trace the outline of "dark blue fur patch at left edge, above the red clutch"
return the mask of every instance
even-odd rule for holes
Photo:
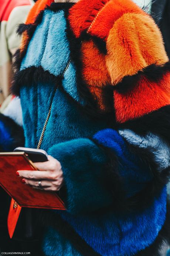
[[[13,119],[0,114],[0,151],[10,152],[18,146],[24,146],[23,128]]]

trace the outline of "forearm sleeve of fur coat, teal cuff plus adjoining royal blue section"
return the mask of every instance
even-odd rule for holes
[[[76,139],[50,148],[64,173],[67,210],[85,213],[125,203],[143,190],[153,174],[149,165],[133,154],[121,135],[113,129],[93,138]]]

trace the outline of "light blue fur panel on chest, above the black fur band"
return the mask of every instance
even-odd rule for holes
[[[69,47],[66,40],[64,12],[45,10],[43,20],[37,26],[28,45],[21,70],[30,66],[42,66],[51,74],[61,75],[69,62]]]

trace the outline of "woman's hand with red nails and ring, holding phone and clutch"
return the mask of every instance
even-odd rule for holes
[[[34,165],[38,171],[17,171],[17,175],[23,178],[23,183],[48,191],[58,191],[62,187],[61,164],[54,157],[48,155],[47,162],[34,163]]]

